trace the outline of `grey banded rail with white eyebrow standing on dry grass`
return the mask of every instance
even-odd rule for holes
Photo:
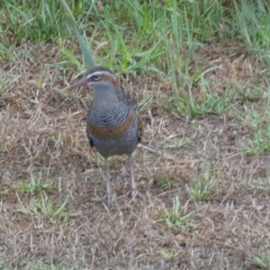
[[[70,85],[88,86],[94,90],[93,101],[87,112],[86,133],[91,148],[104,159],[106,197],[112,202],[109,157],[127,155],[130,168],[131,195],[137,193],[133,173],[134,151],[143,135],[143,122],[137,103],[108,67],[91,67],[85,76]]]

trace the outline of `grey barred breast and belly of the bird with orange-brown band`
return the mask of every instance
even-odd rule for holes
[[[108,94],[102,97],[97,95],[87,115],[88,139],[103,157],[131,154],[141,136],[136,103],[121,88],[115,87],[113,93],[117,97],[116,103],[105,101],[105,107],[94,106],[93,103],[102,103],[99,99],[110,98]]]

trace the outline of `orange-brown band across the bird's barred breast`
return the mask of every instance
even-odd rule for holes
[[[130,124],[134,121],[133,113],[130,113],[126,121],[124,121],[121,125],[116,125],[112,128],[108,127],[97,127],[88,122],[88,127],[92,131],[95,136],[106,138],[106,137],[116,137],[124,134],[129,128]]]

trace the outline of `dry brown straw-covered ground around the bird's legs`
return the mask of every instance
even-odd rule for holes
[[[103,159],[90,152],[85,136],[93,93],[86,88],[74,90],[71,98],[58,93],[71,83],[72,73],[49,65],[53,56],[58,61],[57,55],[58,49],[37,47],[32,59],[14,53],[0,63],[6,76],[20,75],[0,97],[0,261],[10,269],[45,269],[39,264],[60,269],[260,269],[253,256],[270,252],[270,191],[258,186],[269,184],[270,157],[243,153],[248,129],[229,113],[186,121],[158,102],[172,94],[161,77],[130,77],[124,85],[143,101],[145,123],[136,152],[139,196],[126,195],[126,157],[116,157],[112,205],[93,202],[105,193]],[[210,66],[223,64],[207,77],[212,85],[234,82],[241,74],[246,80],[256,65],[237,54],[226,62],[219,54],[210,55]],[[222,86],[216,91],[222,94]],[[181,138],[187,141],[184,147],[167,147],[171,139]],[[190,188],[207,167],[211,197],[195,201]],[[48,187],[27,191],[25,183],[39,178]],[[192,214],[181,226],[169,227],[165,212],[172,211],[175,196],[180,219]]]

